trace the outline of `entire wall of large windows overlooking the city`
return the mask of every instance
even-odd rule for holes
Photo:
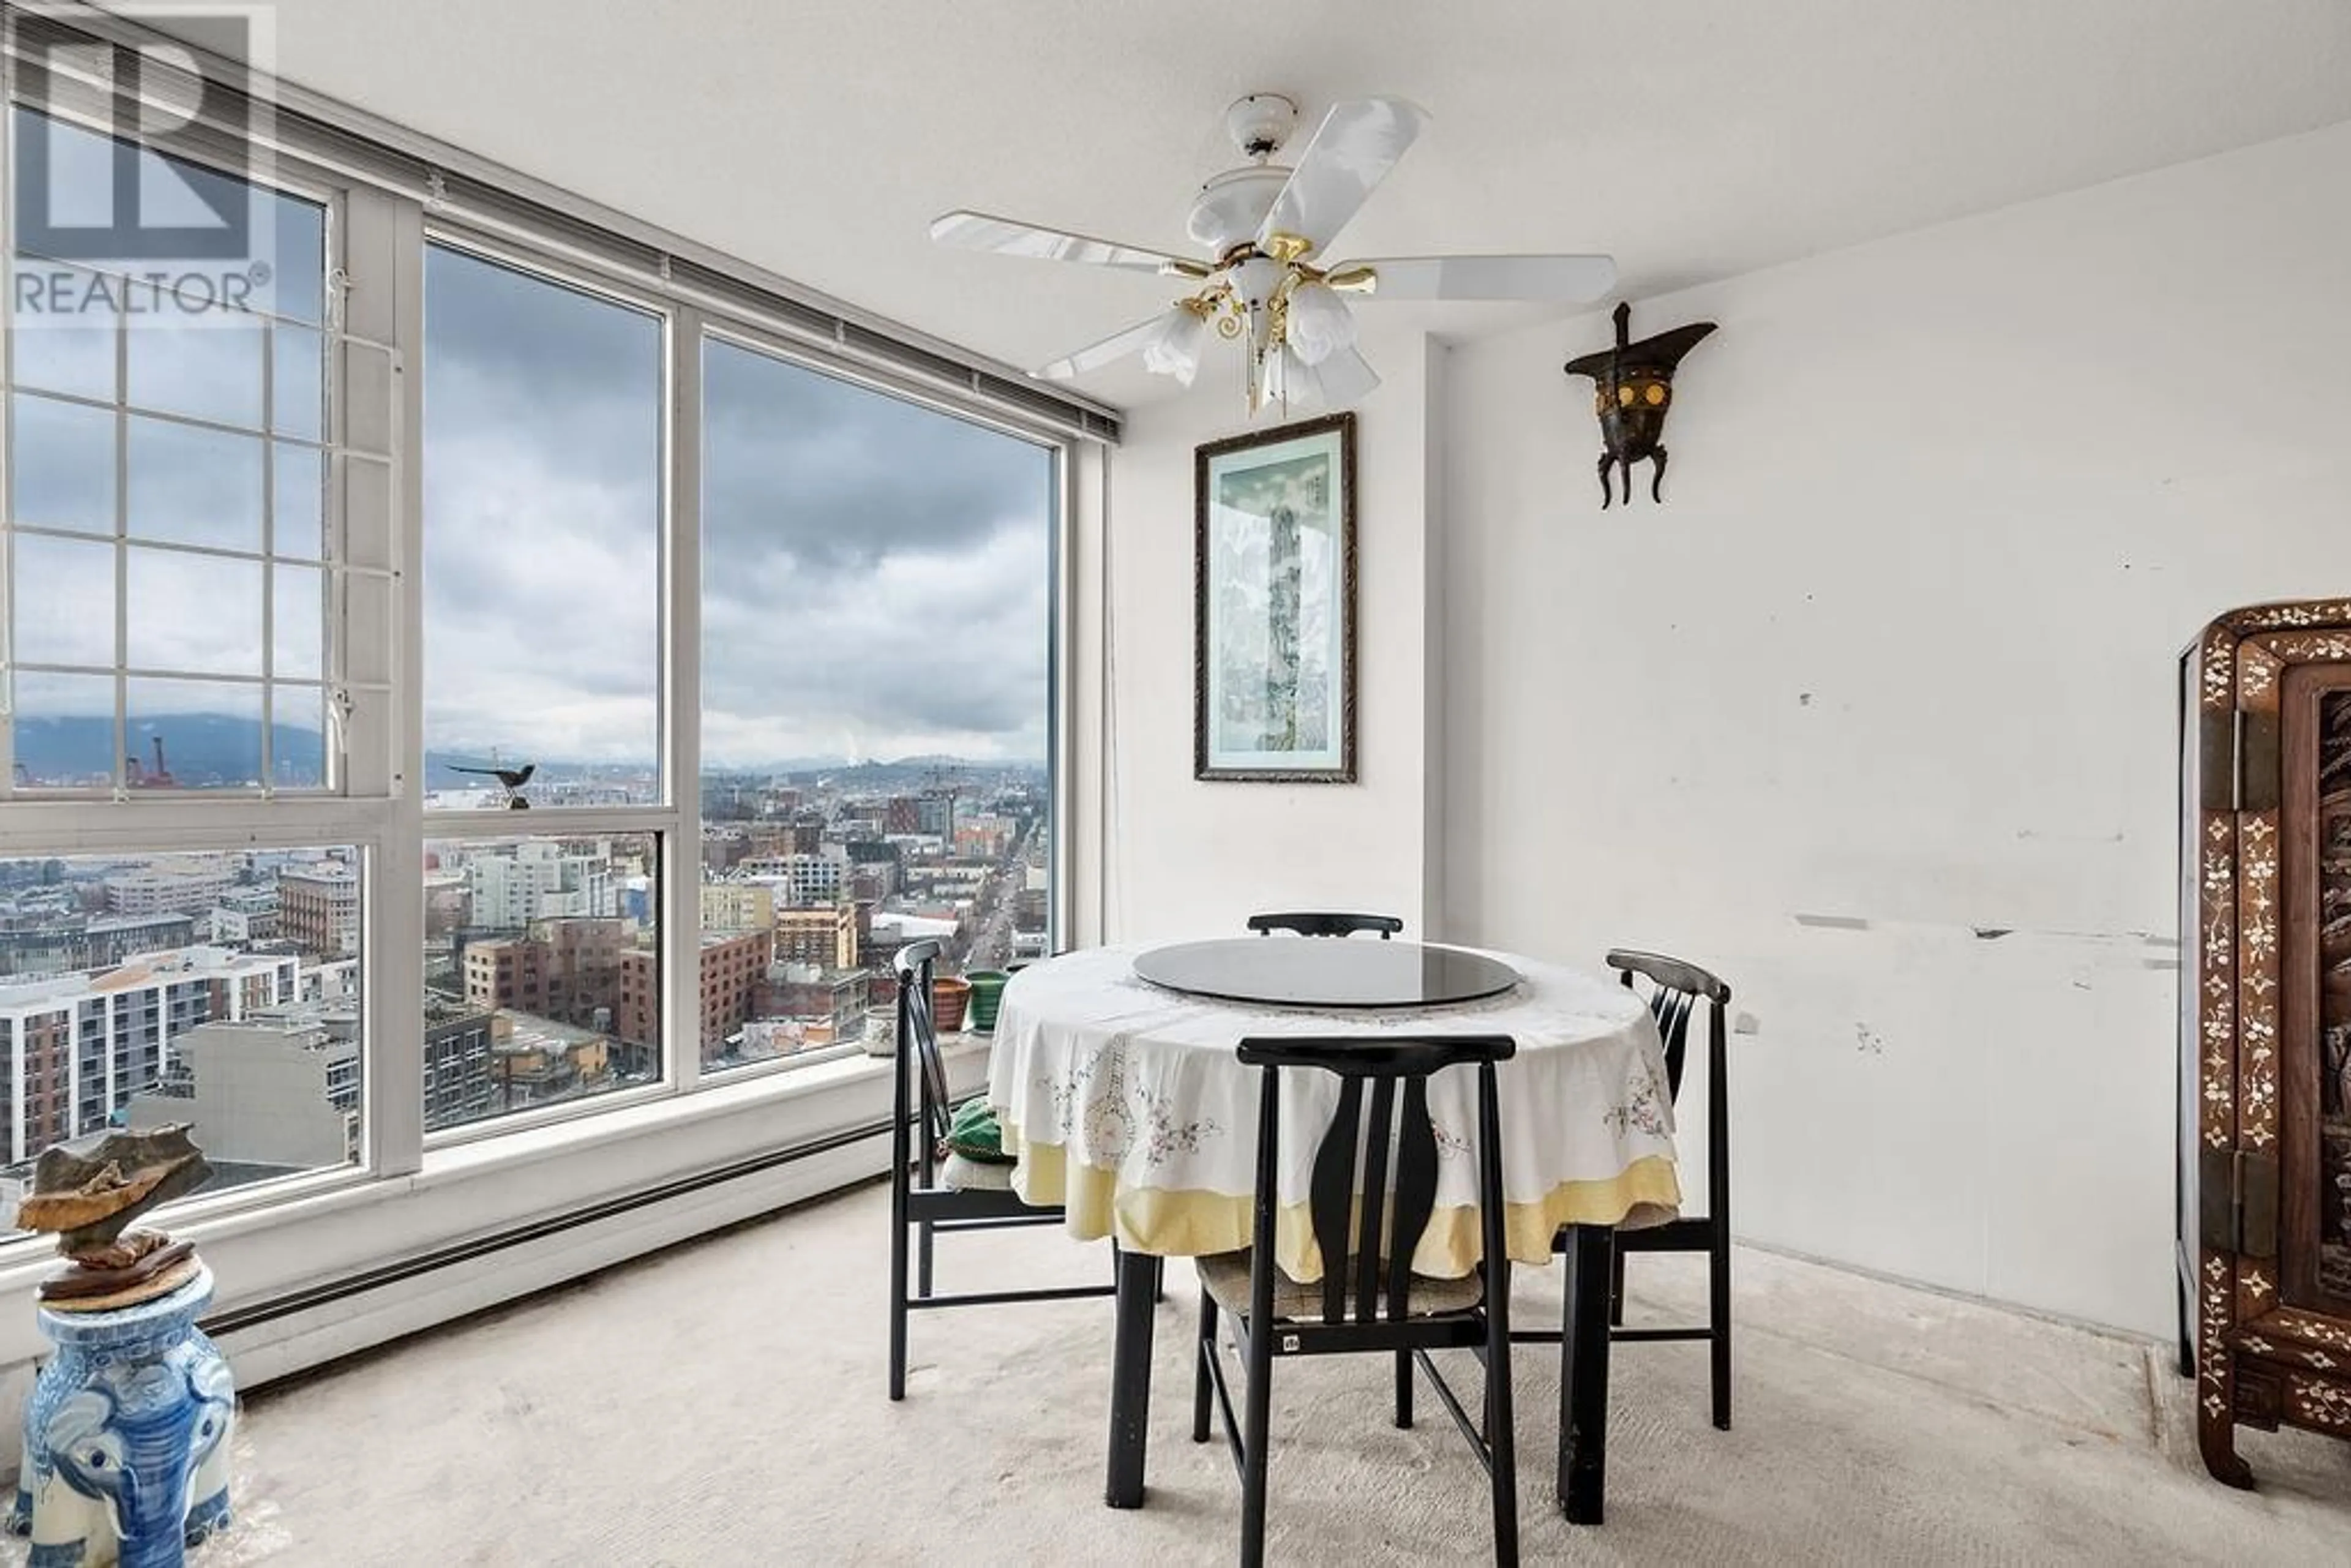
[[[256,1201],[592,1140],[872,1044],[907,940],[1046,950],[1065,454],[1018,397],[94,92],[0,120],[0,1199],[158,1121]],[[249,202],[252,287],[59,252],[127,165]]]

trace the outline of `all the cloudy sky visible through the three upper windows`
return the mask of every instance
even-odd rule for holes
[[[101,143],[73,132],[52,141],[52,160],[59,193],[94,188],[103,172]],[[266,209],[277,256],[266,303],[315,322],[322,214],[292,197]],[[45,270],[66,296],[87,294],[75,268]],[[134,719],[259,719],[259,686],[219,677],[263,675],[266,599],[275,677],[317,682],[324,571],[261,559],[261,498],[273,487],[268,552],[322,557],[322,468],[306,444],[320,435],[320,334],[280,324],[270,348],[249,320],[141,317],[118,386],[115,322],[103,310],[71,322],[19,310],[14,327],[9,501],[14,520],[35,529],[16,538],[14,656],[92,670],[19,670],[19,712],[113,708],[101,672],[118,663],[118,559],[122,651],[132,668],[174,672],[134,682]],[[261,433],[266,355],[280,440]],[[651,315],[463,252],[428,252],[428,750],[654,759],[661,374]],[[120,437],[110,409],[66,402],[118,395],[134,409]],[[703,489],[712,766],[915,752],[1044,759],[1046,449],[715,343]],[[317,686],[280,689],[277,717],[315,724],[317,701]],[[108,764],[92,757],[92,766]]]

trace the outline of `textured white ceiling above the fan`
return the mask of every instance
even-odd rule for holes
[[[978,207],[1183,249],[1199,181],[1237,162],[1223,108],[1255,89],[1298,99],[1305,127],[1371,92],[1434,113],[1333,256],[1613,252],[1634,299],[2351,118],[2346,0],[275,14],[289,80],[1013,364],[1140,320],[1171,289],[940,252],[929,219]],[[1427,320],[1469,334],[1500,310]]]

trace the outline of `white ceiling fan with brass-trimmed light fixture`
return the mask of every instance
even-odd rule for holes
[[[962,249],[1157,273],[1199,284],[1168,310],[1037,374],[1067,381],[1140,353],[1145,369],[1192,386],[1211,331],[1244,346],[1248,411],[1345,407],[1380,386],[1354,350],[1359,299],[1531,299],[1587,303],[1615,284],[1608,256],[1394,256],[1317,266],[1319,256],[1420,136],[1429,115],[1404,99],[1333,103],[1295,169],[1270,162],[1298,106],[1258,92],[1225,110],[1244,167],[1201,186],[1190,233],[1206,261],[1039,228],[985,212],[950,212],[931,240]]]

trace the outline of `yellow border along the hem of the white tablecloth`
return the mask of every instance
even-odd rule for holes
[[[1197,1187],[1128,1187],[1098,1166],[1072,1164],[1058,1143],[1027,1143],[1004,1126],[1006,1154],[1018,1154],[1013,1190],[1032,1204],[1063,1204],[1070,1234],[1084,1241],[1117,1237],[1119,1246],[1161,1258],[1204,1258],[1248,1246],[1255,1199]],[[1674,1161],[1648,1154],[1603,1180],[1559,1182],[1533,1204],[1509,1204],[1502,1215],[1512,1260],[1542,1265],[1561,1225],[1657,1225],[1681,1206]],[[1321,1279],[1321,1248],[1305,1204],[1284,1204],[1274,1215],[1274,1251],[1291,1279]],[[1460,1279],[1476,1267],[1483,1246],[1474,1206],[1439,1206],[1413,1251],[1413,1269]]]

